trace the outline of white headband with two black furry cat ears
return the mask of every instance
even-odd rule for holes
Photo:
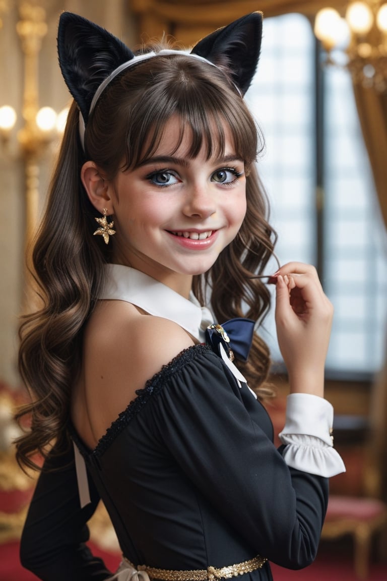
[[[258,64],[262,13],[252,12],[202,38],[190,52],[162,50],[135,55],[107,30],[71,12],[59,19],[58,55],[67,87],[79,107],[83,145],[89,114],[107,85],[126,68],[158,55],[186,54],[214,66],[226,66],[244,95]]]

